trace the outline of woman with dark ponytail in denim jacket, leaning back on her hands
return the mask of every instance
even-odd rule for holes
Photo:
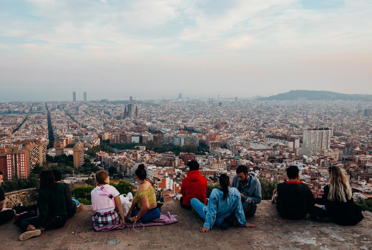
[[[256,227],[254,224],[247,223],[239,191],[236,188],[230,188],[230,179],[227,175],[219,176],[219,185],[221,188],[212,190],[208,205],[203,204],[199,199],[191,199],[191,206],[205,221],[200,231],[208,232],[213,225],[221,226],[225,218],[230,215],[237,218],[241,227]]]

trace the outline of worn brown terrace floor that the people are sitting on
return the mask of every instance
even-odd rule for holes
[[[0,225],[0,249],[372,249],[372,214],[356,226],[342,227],[310,219],[289,221],[280,218],[275,204],[262,201],[256,215],[248,220],[256,228],[214,227],[208,233],[198,230],[203,221],[197,214],[180,208],[179,203],[165,203],[162,211],[177,215],[176,224],[146,227],[138,233],[133,228],[97,233],[93,230],[92,207],[78,212],[58,230],[46,230],[41,236],[19,241],[22,233],[10,221]],[[137,229],[138,230],[138,229]],[[120,240],[110,245],[109,240]]]

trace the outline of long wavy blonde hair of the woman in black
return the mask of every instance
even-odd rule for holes
[[[353,191],[344,173],[338,166],[330,166],[328,200],[346,202],[353,197]]]

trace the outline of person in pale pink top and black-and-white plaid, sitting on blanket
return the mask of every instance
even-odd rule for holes
[[[125,217],[121,206],[120,193],[110,186],[109,173],[101,170],[96,173],[97,186],[90,192],[92,208],[96,211],[92,221],[99,227],[105,225],[124,225]],[[115,206],[119,212],[116,212]]]

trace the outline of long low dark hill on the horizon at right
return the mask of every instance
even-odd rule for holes
[[[294,101],[294,100],[343,100],[343,101],[372,101],[372,95],[341,94],[332,91],[318,90],[291,90],[286,93],[262,97],[261,101]]]

